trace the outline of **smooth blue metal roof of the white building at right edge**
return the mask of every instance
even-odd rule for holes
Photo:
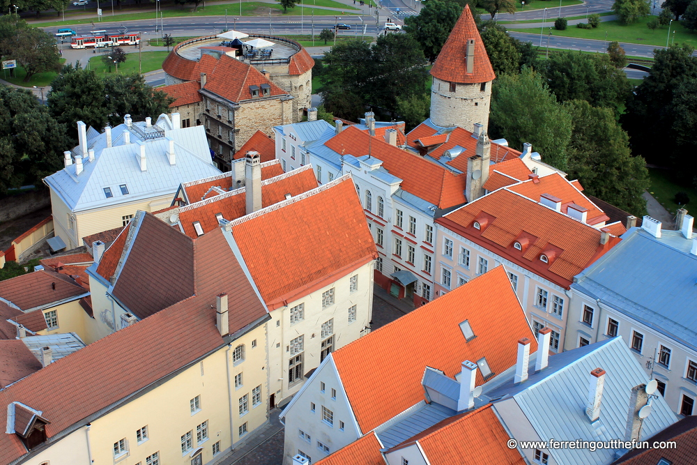
[[[576,277],[572,288],[697,350],[697,256],[680,231],[641,228]]]

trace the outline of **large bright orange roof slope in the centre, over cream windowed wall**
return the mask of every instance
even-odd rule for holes
[[[233,220],[231,228],[269,308],[310,294],[377,257],[351,176]],[[269,238],[263,247],[260,237]]]

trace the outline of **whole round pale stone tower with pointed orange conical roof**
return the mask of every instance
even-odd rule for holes
[[[496,77],[469,6],[465,6],[431,68],[431,122],[473,131],[489,127],[491,82]]]

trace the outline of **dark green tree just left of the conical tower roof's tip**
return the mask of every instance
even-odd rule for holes
[[[453,26],[462,13],[454,1],[429,0],[416,16],[406,17],[404,30],[415,38],[424,51],[424,56],[433,63],[450,36]]]

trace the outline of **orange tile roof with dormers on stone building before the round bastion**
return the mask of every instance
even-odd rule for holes
[[[240,102],[240,100],[252,98],[250,86],[262,84],[270,86],[270,96],[282,96],[287,93],[254,66],[233,59],[231,56],[222,55],[218,59],[215,70],[206,77],[206,86],[201,90],[213,92],[231,102]],[[259,95],[260,97],[257,98],[263,98],[261,91]]]

